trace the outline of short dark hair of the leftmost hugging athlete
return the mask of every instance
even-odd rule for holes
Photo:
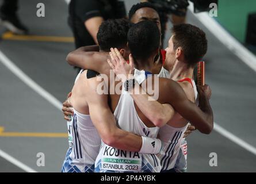
[[[102,22],[97,33],[97,40],[102,51],[110,48],[124,48],[127,45],[127,33],[130,23],[124,18]]]

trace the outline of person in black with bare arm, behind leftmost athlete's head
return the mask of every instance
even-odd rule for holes
[[[117,0],[71,0],[68,24],[75,37],[75,47],[95,45],[97,32],[104,20],[124,18],[124,3]]]

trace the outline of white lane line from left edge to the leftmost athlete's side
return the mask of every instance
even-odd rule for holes
[[[36,93],[40,94],[44,99],[46,99],[49,103],[54,105],[57,109],[62,109],[62,103],[58,101],[53,95],[48,93],[48,91],[44,90],[43,87],[37,85],[35,81],[33,81],[28,75],[26,75],[20,68],[16,66],[6,55],[0,51],[0,60],[1,62],[13,72],[22,82],[31,87]]]

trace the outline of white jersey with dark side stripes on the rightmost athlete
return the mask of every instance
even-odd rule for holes
[[[195,94],[195,101],[197,102],[198,93],[196,89],[196,83],[194,83],[193,80],[192,85]],[[182,128],[174,128],[170,125],[165,125],[159,130],[159,136],[163,141],[163,149],[161,150],[160,154],[158,154],[158,158],[161,160],[162,171],[171,170],[174,168],[180,148],[181,153],[186,159],[186,144],[182,143],[184,143],[185,140],[183,136],[187,127],[188,124]]]

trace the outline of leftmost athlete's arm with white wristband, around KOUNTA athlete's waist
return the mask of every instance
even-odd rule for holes
[[[156,154],[161,150],[162,143],[158,139],[141,137],[117,128],[116,120],[108,105],[108,95],[98,94],[97,86],[100,82],[96,78],[88,79],[86,88],[87,100],[91,120],[97,129],[102,141],[111,147],[126,151],[137,151],[147,154]],[[155,147],[151,145],[155,141]]]

